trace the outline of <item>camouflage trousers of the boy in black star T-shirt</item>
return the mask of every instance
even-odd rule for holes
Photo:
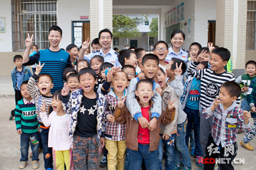
[[[99,145],[97,135],[90,137],[73,137],[73,159],[76,170],[99,169]]]

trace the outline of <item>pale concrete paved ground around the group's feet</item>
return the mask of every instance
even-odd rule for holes
[[[20,136],[17,134],[15,121],[9,121],[10,111],[15,107],[14,91],[10,77],[0,76],[0,170],[18,170],[20,159]],[[253,123],[252,119],[250,122]],[[249,151],[239,144],[244,133],[238,135],[239,151],[236,158],[244,158],[244,164],[234,164],[235,170],[255,170],[256,151]],[[253,139],[251,145],[256,148],[256,139]],[[30,153],[31,151],[29,151]],[[42,153],[39,154],[39,169],[44,170],[44,159]],[[101,159],[101,158],[100,158]],[[192,167],[197,170],[195,159],[191,158]],[[164,162],[164,161],[163,161]],[[32,169],[32,161],[29,158],[26,170]],[[104,170],[105,168],[100,168]]]

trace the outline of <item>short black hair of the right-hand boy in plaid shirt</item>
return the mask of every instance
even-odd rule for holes
[[[231,97],[236,96],[237,98],[239,98],[239,96],[241,95],[241,87],[234,81],[224,82],[221,85],[221,88],[225,88]]]

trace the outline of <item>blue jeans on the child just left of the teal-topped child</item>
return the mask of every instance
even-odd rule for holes
[[[174,147],[174,164],[177,167],[180,167],[180,163],[183,164],[184,167],[191,167],[189,149],[186,146],[185,136],[186,136],[186,125],[187,119],[180,124],[177,124],[177,133],[175,136],[175,147]],[[181,161],[180,161],[181,156]]]

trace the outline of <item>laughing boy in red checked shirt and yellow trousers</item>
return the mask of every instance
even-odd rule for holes
[[[115,121],[114,112],[116,104],[122,100],[125,101],[126,87],[128,86],[128,76],[125,72],[119,71],[113,75],[108,94],[105,95],[107,108],[105,111],[106,132],[105,147],[108,150],[108,169],[124,170],[125,163],[125,123],[119,124]]]

